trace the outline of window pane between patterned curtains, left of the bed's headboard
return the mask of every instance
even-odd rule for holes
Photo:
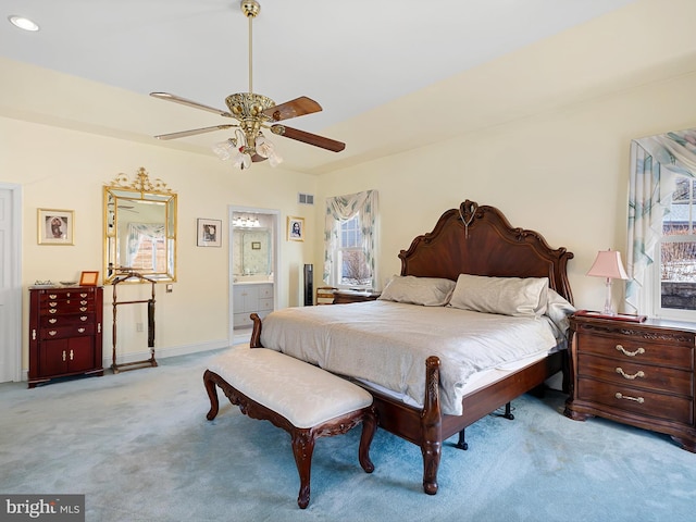
[[[349,220],[337,221],[339,228],[339,245],[336,262],[338,286],[365,288],[371,286],[372,271],[368,266],[368,259],[360,231],[359,214]]]

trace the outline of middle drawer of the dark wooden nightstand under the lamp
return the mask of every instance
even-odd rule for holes
[[[577,359],[580,377],[595,377],[617,386],[635,386],[685,397],[694,396],[693,374],[685,370],[635,364],[585,353],[579,353]]]

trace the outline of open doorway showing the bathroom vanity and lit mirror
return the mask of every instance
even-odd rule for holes
[[[229,207],[229,338],[247,343],[251,313],[261,319],[277,306],[279,210]]]

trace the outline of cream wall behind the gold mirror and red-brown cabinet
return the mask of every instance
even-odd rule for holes
[[[103,271],[102,186],[119,173],[134,179],[144,166],[151,178],[162,178],[178,195],[177,282],[172,294],[157,289],[157,350],[173,355],[200,348],[226,346],[228,332],[228,226],[223,227],[222,248],[196,246],[196,220],[226,223],[228,206],[258,207],[285,216],[304,216],[307,207],[296,203],[298,190],[313,192],[314,176],[254,165],[252,174],[233,172],[212,154],[201,156],[123,139],[108,138],[48,125],[0,117],[0,181],[22,186],[22,285],[36,279],[74,281],[83,270]],[[75,245],[37,244],[37,209],[75,211]],[[312,237],[306,243],[281,240],[278,306],[299,302],[299,268],[310,262]],[[306,250],[307,249],[307,250]],[[119,287],[119,299],[147,298],[149,287]],[[26,372],[27,295],[23,299],[23,362]],[[111,358],[112,287],[104,289],[104,358]],[[147,352],[146,334],[136,323],[147,323],[144,307],[119,309],[119,353],[136,358]]]

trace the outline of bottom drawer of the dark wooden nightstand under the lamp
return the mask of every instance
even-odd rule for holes
[[[694,402],[684,397],[580,378],[577,398],[608,406],[619,412],[635,413],[644,419],[663,419],[682,424],[694,423]]]

